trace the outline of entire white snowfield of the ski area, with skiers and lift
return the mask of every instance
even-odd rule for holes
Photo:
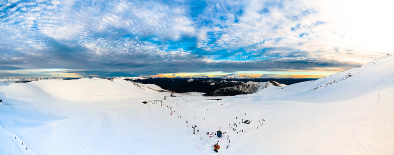
[[[231,97],[119,78],[0,83],[0,154],[394,154],[393,77],[391,54]]]

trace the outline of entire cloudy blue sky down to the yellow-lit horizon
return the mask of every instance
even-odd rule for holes
[[[393,4],[0,0],[0,77],[322,77],[394,52]]]

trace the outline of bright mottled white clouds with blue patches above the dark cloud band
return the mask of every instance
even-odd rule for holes
[[[143,61],[144,56],[155,61],[200,56],[223,62],[273,59],[274,55],[365,63],[393,52],[390,1],[206,4],[199,11],[191,10],[193,4],[188,1],[3,1],[0,47],[39,53],[62,44],[119,62],[134,61],[128,56],[137,57],[135,61]],[[183,48],[187,44],[198,49],[187,51]]]

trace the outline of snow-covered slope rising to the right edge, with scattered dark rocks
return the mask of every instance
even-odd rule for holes
[[[262,90],[264,98],[302,102],[350,100],[394,86],[394,56],[385,55],[365,65],[308,81],[286,86],[282,90]],[[377,96],[378,94],[376,94]]]

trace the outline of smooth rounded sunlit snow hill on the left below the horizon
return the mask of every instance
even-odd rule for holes
[[[117,101],[130,97],[149,97],[163,91],[155,85],[137,84],[122,79],[82,78],[16,83],[2,90],[11,98],[42,101],[56,98],[73,102]]]

